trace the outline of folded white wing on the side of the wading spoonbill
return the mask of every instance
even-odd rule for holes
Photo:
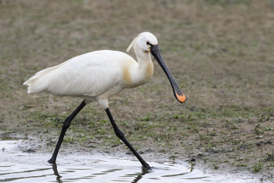
[[[122,77],[118,62],[103,53],[86,53],[42,70],[25,84],[28,93],[95,97],[115,86]],[[35,79],[35,80],[34,80]]]

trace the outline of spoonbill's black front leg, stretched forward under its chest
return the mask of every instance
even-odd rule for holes
[[[127,141],[127,138],[125,138],[125,134],[121,130],[119,130],[119,127],[116,125],[116,123],[112,117],[110,109],[106,108],[105,112],[107,112],[107,114],[108,114],[108,118],[110,119],[110,122],[112,123],[112,127],[114,129],[116,136],[118,136],[121,139],[121,141],[123,141],[123,143],[125,143],[125,145],[127,145],[127,147],[132,151],[132,153],[136,156],[136,158],[138,158],[138,160],[140,161],[140,163],[142,164],[143,167],[145,167],[146,169],[151,169],[151,167],[149,167],[149,164],[147,164],[147,162],[145,162],[145,160],[142,159],[140,154],[138,154],[138,152],[132,147],[132,145],[129,143],[129,141]]]

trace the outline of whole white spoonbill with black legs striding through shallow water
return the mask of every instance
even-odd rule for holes
[[[77,109],[64,120],[58,143],[48,162],[55,163],[64,134],[78,112],[86,104],[97,101],[108,114],[116,136],[127,145],[143,167],[151,169],[149,164],[142,159],[127,141],[123,132],[119,130],[108,108],[108,99],[121,92],[124,88],[134,88],[149,81],[153,75],[151,54],[169,78],[175,98],[183,103],[186,101],[186,96],[164,63],[158,48],[158,40],[153,34],[149,32],[138,34],[127,48],[127,52],[132,49],[136,53],[138,62],[121,51],[92,51],[71,58],[57,66],[39,71],[24,82],[28,86],[27,93],[45,92],[53,95],[81,97],[84,99]]]

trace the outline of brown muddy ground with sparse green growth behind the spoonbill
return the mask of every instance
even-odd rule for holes
[[[0,130],[53,151],[82,99],[27,95],[37,71],[99,49],[125,51],[140,32],[158,38],[187,101],[157,62],[153,79],[110,99],[114,119],[143,156],[212,171],[274,172],[274,1],[8,1],[0,3]],[[12,138],[10,135],[2,139]],[[61,152],[129,151],[97,103],[75,118]],[[155,158],[156,159],[156,158]]]

